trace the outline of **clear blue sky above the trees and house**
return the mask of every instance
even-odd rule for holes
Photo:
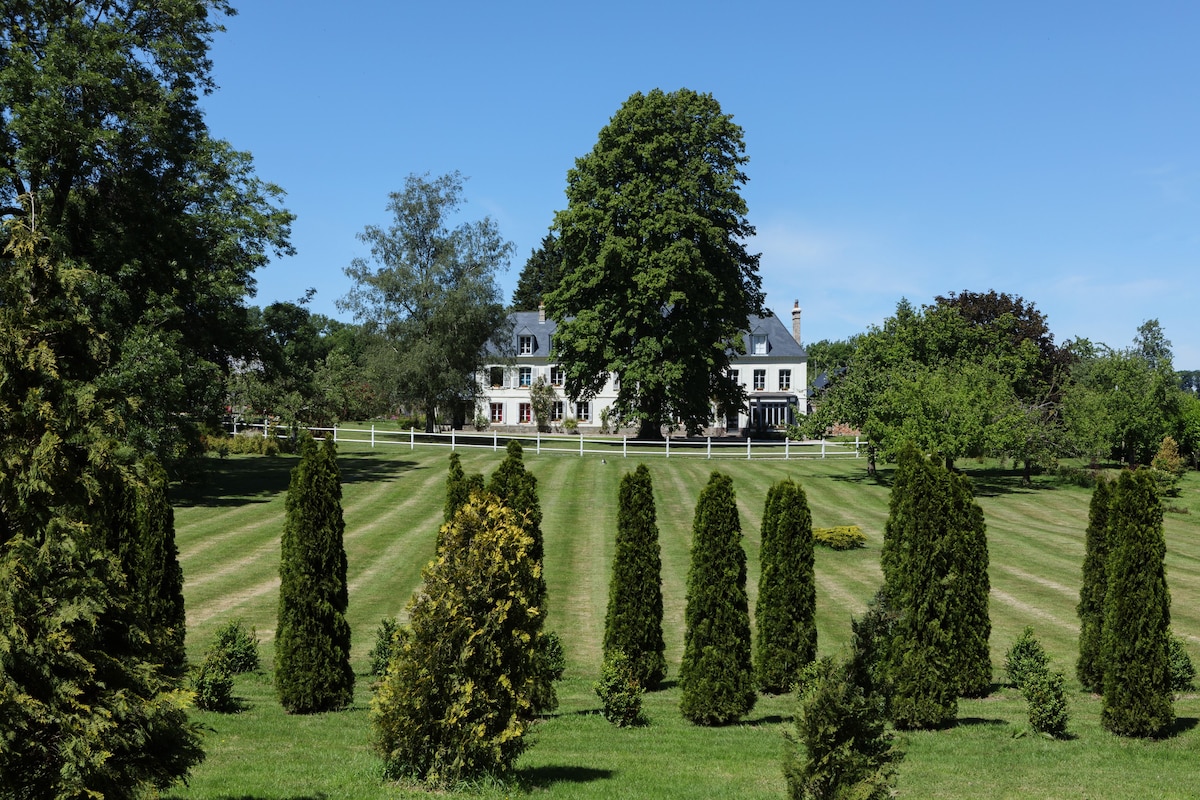
[[[236,2],[236,0],[235,0]],[[469,178],[521,266],[566,170],[635,91],[710,92],[745,132],[767,302],[804,339],[900,297],[1019,294],[1055,338],[1157,318],[1200,369],[1200,4],[244,0],[215,136],[296,215],[253,301],[346,319],[356,234],[410,173]]]

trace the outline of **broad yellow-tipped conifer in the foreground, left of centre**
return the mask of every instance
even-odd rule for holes
[[[517,515],[476,495],[444,533],[371,704],[386,774],[434,786],[511,771],[535,716],[545,621]]]

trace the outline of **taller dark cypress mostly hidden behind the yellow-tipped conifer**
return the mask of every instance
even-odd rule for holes
[[[538,500],[538,479],[526,470],[523,453],[524,449],[520,441],[516,439],[509,441],[505,446],[504,461],[496,468],[487,482],[487,492],[511,509],[521,524],[524,525],[526,533],[529,534],[532,540],[529,558],[538,565],[533,596],[545,614],[546,578],[542,573],[541,503]],[[534,709],[539,714],[558,708],[554,681],[562,678],[562,668],[553,663],[552,648],[545,639],[546,637],[542,634],[538,643],[538,681],[533,694]]]

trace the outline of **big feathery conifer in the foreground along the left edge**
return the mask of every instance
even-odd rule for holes
[[[199,763],[199,729],[160,667],[170,614],[126,571],[155,555],[130,512],[128,399],[89,380],[113,347],[96,276],[35,228],[28,206],[7,223],[0,270],[0,787],[144,796]]]

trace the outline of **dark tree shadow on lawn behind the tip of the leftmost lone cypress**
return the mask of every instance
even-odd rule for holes
[[[240,506],[268,503],[287,492],[292,469],[299,463],[295,456],[238,456],[205,462],[199,482],[173,492],[176,507]],[[342,483],[365,483],[394,477],[412,470],[414,462],[379,458],[370,455],[338,456],[337,467]]]

